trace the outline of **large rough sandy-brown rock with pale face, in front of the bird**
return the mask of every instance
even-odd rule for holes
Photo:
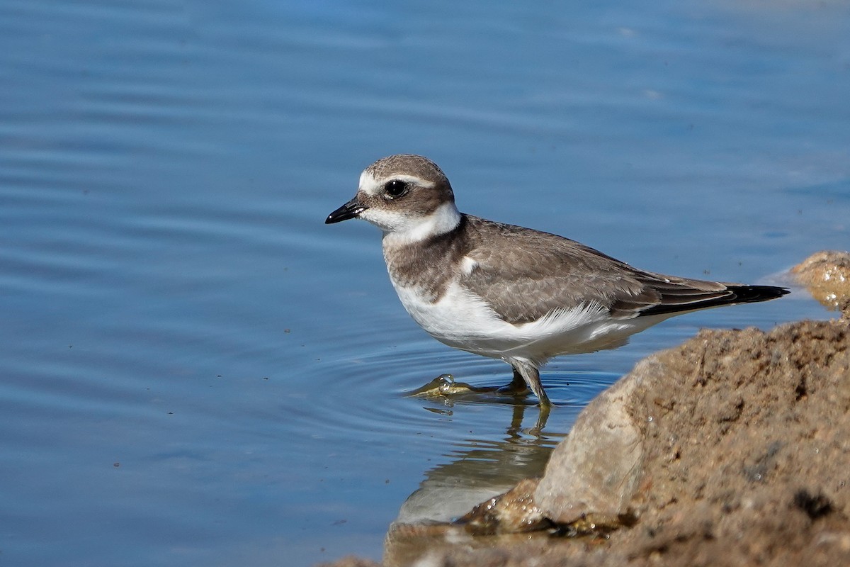
[[[587,456],[570,455],[564,442],[541,480],[538,504],[553,519],[601,509],[635,513],[635,527],[610,536],[603,564],[618,556],[638,564],[779,565],[808,557],[847,564],[848,327],[846,321],[803,321],[768,333],[703,331],[678,349],[650,356],[609,390],[617,409],[608,422],[617,427],[607,437],[627,430],[624,439],[637,434],[642,447],[641,458],[601,457],[621,471],[622,488],[607,501],[568,493],[576,484],[557,470],[560,463]],[[598,424],[606,416],[588,406],[570,434],[587,442],[573,446],[602,452],[592,449],[591,438],[604,431]],[[596,424],[588,428],[588,420]],[[613,449],[619,441],[602,443]],[[635,469],[624,473],[632,462]],[[547,484],[550,474],[558,481]],[[599,476],[594,486],[593,475],[579,474],[578,486],[587,484],[594,495],[611,485]],[[557,494],[558,485],[564,494]],[[565,508],[564,502],[587,507]]]

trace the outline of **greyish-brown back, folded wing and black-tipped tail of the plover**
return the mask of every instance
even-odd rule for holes
[[[613,317],[631,319],[785,294],[778,287],[644,272],[579,242],[519,226],[471,216],[467,226],[466,255],[476,265],[461,283],[514,324],[590,302]]]

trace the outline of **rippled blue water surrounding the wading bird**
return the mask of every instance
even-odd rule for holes
[[[769,281],[850,247],[848,29],[830,2],[3,0],[0,563],[379,558],[423,494],[540,473],[644,355],[834,316],[798,293],[556,360],[537,437],[533,406],[405,396],[510,372],[416,327],[377,230],[322,223],[416,152],[463,211]]]

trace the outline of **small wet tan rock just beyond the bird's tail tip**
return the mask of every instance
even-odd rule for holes
[[[850,252],[816,252],[791,268],[791,274],[820,303],[850,317]]]

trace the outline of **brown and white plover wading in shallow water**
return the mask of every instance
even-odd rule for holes
[[[504,360],[513,367],[504,389],[530,388],[541,406],[540,367],[553,356],[614,349],[673,315],[788,293],[655,274],[563,236],[460,213],[449,179],[422,156],[366,167],[357,194],[325,222],[348,218],[383,231],[389,278],[425,331]]]

